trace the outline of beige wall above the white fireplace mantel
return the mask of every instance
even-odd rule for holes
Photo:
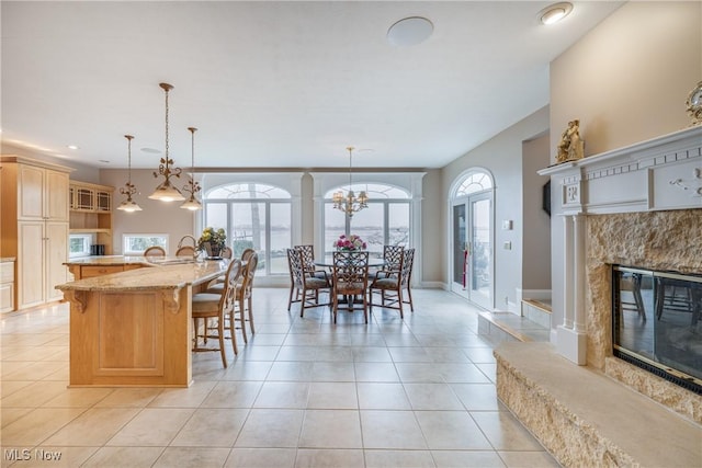
[[[551,156],[580,119],[586,156],[689,125],[702,80],[702,2],[629,2],[551,64]]]

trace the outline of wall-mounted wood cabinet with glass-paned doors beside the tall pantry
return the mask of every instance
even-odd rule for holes
[[[105,255],[112,254],[112,193],[114,187],[71,181],[70,232],[91,233],[95,243],[105,246]]]

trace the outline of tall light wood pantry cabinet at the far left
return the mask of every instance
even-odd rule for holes
[[[18,309],[63,299],[72,169],[21,156],[2,156],[0,256],[16,259]]]

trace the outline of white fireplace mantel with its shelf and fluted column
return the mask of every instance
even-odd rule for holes
[[[554,220],[563,220],[563,252],[554,254],[563,259],[563,322],[552,341],[562,355],[586,365],[586,216],[702,208],[702,126],[552,165],[539,174],[551,176]],[[592,343],[591,330],[589,338]]]

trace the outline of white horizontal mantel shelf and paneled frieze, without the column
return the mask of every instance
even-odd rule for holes
[[[565,215],[702,208],[702,126],[539,171]]]

